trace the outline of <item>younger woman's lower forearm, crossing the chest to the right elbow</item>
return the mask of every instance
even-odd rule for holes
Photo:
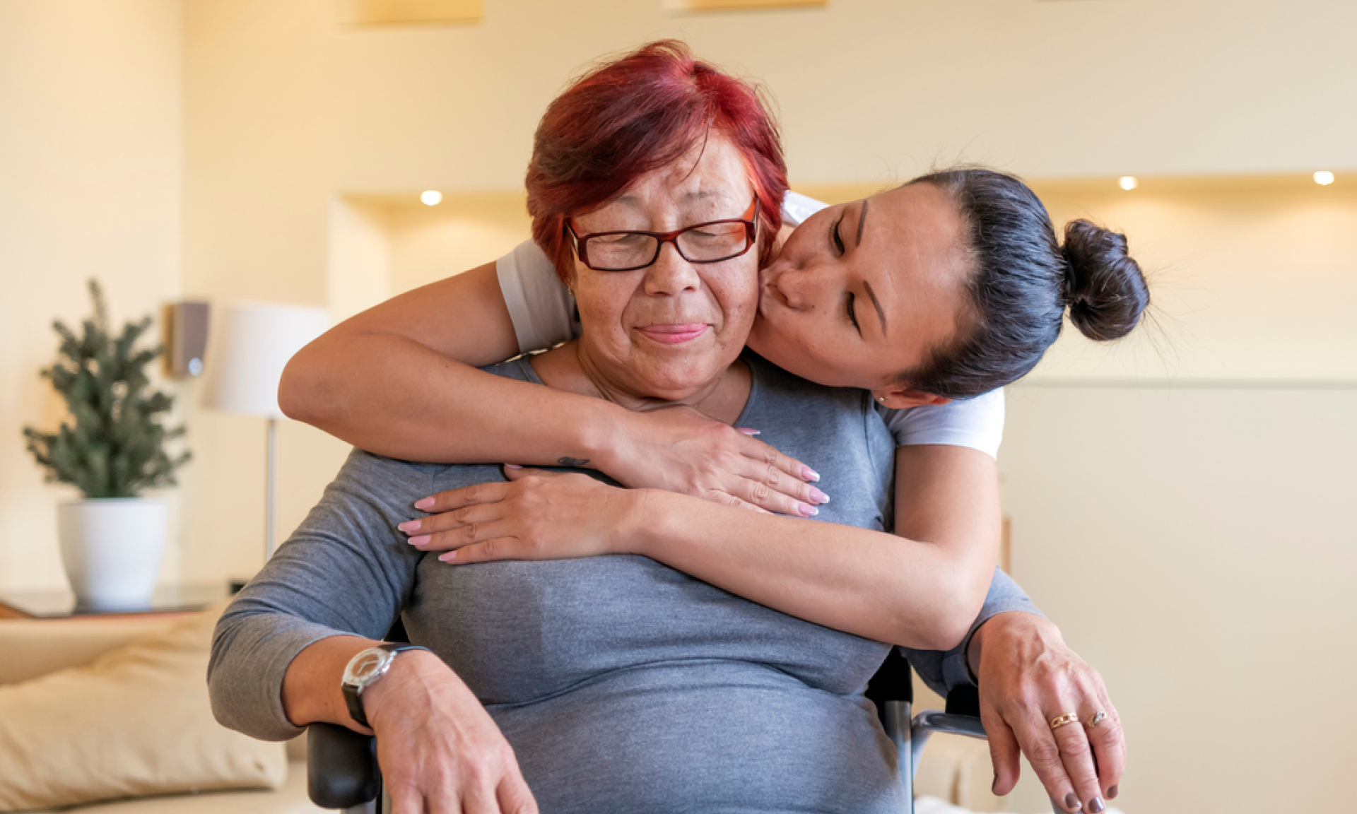
[[[953,575],[968,566],[947,547],[664,491],[636,497],[632,554],[783,613],[925,650],[954,647],[974,619],[972,608],[957,621]]]

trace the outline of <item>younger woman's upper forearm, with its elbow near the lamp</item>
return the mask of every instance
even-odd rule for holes
[[[556,465],[569,457],[597,465],[630,415],[601,399],[486,373],[394,334],[330,338],[299,353],[286,376],[293,392],[307,393],[284,404],[289,415],[411,461]]]

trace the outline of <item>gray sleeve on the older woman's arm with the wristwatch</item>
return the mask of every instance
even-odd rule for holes
[[[282,677],[308,644],[381,639],[400,615],[422,554],[396,524],[432,494],[429,467],[354,450],[320,503],[217,623],[208,663],[212,711],[265,741],[301,733],[282,708]]]

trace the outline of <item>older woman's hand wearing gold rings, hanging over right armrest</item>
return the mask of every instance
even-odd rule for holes
[[[1054,624],[1031,613],[995,616],[972,639],[972,665],[977,648],[995,794],[1018,783],[1020,749],[1053,803],[1065,811],[1102,811],[1117,796],[1126,765],[1121,719],[1102,676],[1065,646]],[[1106,718],[1088,729],[1098,711]],[[1067,712],[1079,720],[1052,730],[1050,720]]]

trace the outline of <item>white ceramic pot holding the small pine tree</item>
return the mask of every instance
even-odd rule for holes
[[[166,548],[166,505],[155,498],[96,498],[57,506],[71,590],[91,609],[145,608]]]

